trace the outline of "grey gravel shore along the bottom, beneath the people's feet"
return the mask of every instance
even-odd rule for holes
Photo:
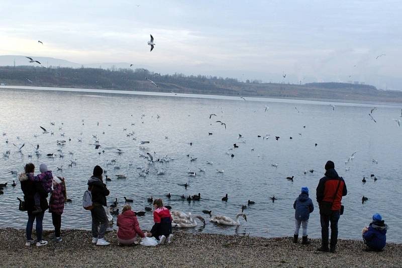
[[[44,231],[47,239],[50,231]],[[63,241],[42,247],[25,247],[25,230],[0,229],[0,266],[105,266],[105,267],[400,267],[402,244],[388,243],[382,252],[365,252],[362,241],[338,240],[337,253],[315,251],[293,244],[290,237],[261,238],[175,232],[170,245],[157,247],[117,245],[116,231],[106,247],[91,244],[86,230],[62,230]]]

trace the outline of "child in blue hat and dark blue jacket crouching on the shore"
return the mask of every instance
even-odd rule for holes
[[[373,221],[368,227],[363,228],[363,240],[367,245],[366,251],[382,251],[386,244],[386,230],[388,225],[384,223],[380,214],[373,215]]]

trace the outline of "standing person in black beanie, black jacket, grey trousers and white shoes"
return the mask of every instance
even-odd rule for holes
[[[91,209],[92,244],[96,245],[110,244],[104,238],[109,223],[104,206],[106,206],[106,197],[110,192],[106,188],[106,184],[104,184],[102,178],[103,172],[101,167],[95,166],[93,168],[93,176],[88,180],[88,190],[91,192],[93,203],[93,208]]]

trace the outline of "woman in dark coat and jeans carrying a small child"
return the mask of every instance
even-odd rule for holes
[[[32,239],[32,228],[34,226],[34,221],[36,219],[36,245],[43,246],[47,244],[47,241],[42,240],[42,221],[43,216],[45,214],[45,210],[48,209],[47,196],[45,189],[42,187],[41,182],[39,181],[31,181],[28,179],[28,176],[34,176],[35,166],[32,163],[25,165],[25,173],[19,175],[19,180],[21,182],[21,190],[24,193],[24,201],[25,208],[28,212],[28,222],[27,222],[27,242],[26,246],[33,245],[35,241]],[[39,193],[40,195],[40,206],[42,212],[38,214],[33,214],[32,212],[35,210],[35,193]]]

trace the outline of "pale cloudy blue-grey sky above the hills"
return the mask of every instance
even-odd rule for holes
[[[0,8],[0,55],[402,90],[400,1],[1,0]]]

